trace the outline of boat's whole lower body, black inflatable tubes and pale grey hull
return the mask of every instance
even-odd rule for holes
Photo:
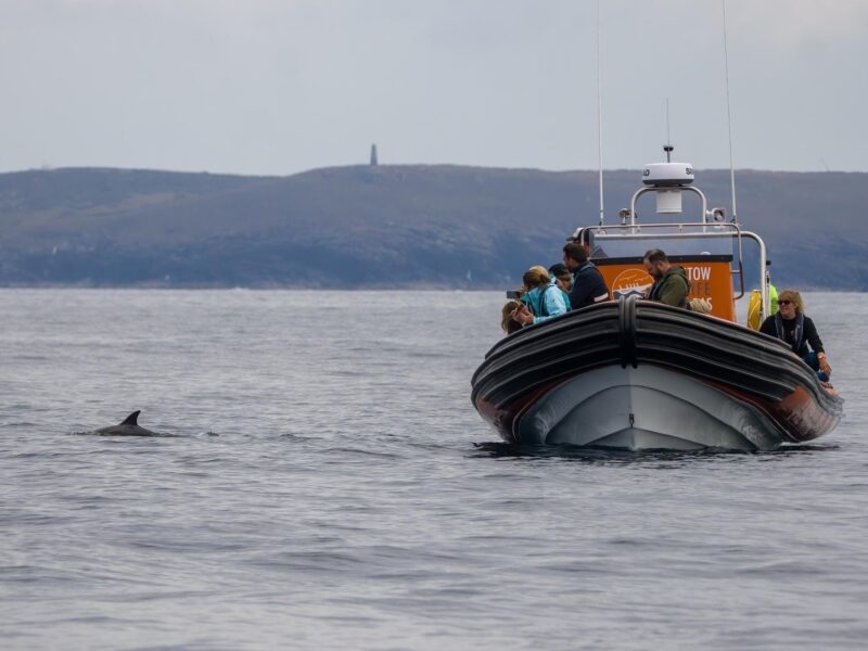
[[[842,406],[777,340],[634,298],[505,339],[472,399],[507,442],[631,450],[775,449],[829,432]]]

